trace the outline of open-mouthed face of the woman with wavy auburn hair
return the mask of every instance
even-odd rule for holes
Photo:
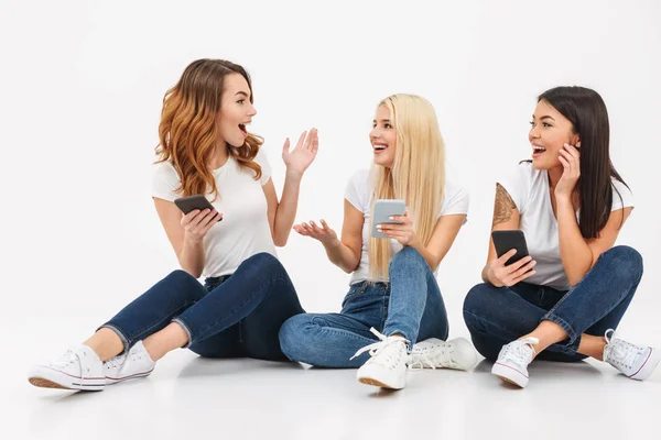
[[[242,146],[248,136],[246,125],[256,114],[246,78],[239,74],[226,76],[217,119],[219,136],[231,146]]]

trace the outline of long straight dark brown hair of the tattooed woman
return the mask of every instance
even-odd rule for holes
[[[610,124],[606,103],[596,91],[585,87],[555,87],[538,97],[549,102],[572,122],[572,131],[581,136],[581,177],[578,227],[584,239],[599,237],[610,217],[611,178],[627,185],[610,162]],[[621,198],[621,196],[617,195]]]

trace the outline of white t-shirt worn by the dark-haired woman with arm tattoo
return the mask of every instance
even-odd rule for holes
[[[570,280],[560,257],[557,219],[549,193],[549,172],[522,162],[514,173],[498,183],[519,209],[520,229],[525,235],[528,252],[537,261],[535,274],[525,278],[525,283],[568,290]],[[614,178],[613,187],[611,211],[633,206],[633,195],[625,184]],[[578,213],[576,218],[579,218]]]

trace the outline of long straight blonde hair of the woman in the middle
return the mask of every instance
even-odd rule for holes
[[[392,168],[372,165],[371,212],[375,200],[407,200],[413,230],[427,245],[437,222],[445,187],[445,145],[436,112],[426,99],[415,95],[392,95],[379,102],[377,109],[381,106],[390,110],[397,131],[397,146]],[[388,265],[392,258],[390,240],[369,240],[370,278],[388,279]]]

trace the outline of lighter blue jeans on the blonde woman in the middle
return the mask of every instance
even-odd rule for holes
[[[305,314],[290,318],[280,329],[280,344],[292,361],[325,367],[358,367],[368,353],[349,360],[383,334],[400,333],[412,342],[446,339],[445,305],[434,274],[413,248],[404,248],[390,262],[390,283],[351,285],[339,314]]]

